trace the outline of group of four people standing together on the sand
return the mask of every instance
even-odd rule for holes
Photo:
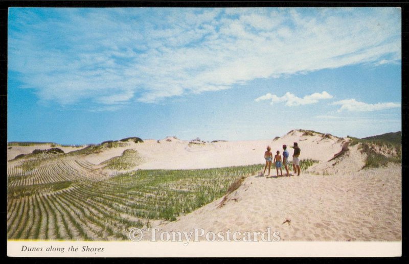
[[[294,173],[296,173],[298,176],[301,173],[301,168],[300,168],[300,153],[301,153],[301,149],[298,147],[298,143],[294,142],[294,146],[292,147],[294,148],[294,153],[292,155],[292,167],[294,169]],[[283,145],[283,159],[281,161],[281,155],[280,155],[280,151],[277,151],[277,154],[274,156],[274,160],[272,158],[272,153],[271,153],[271,148],[270,146],[267,146],[267,151],[264,152],[264,159],[265,159],[265,167],[264,167],[264,172],[263,175],[265,174],[265,171],[268,167],[268,175],[270,175],[270,167],[271,167],[271,162],[273,162],[276,165],[276,170],[277,170],[277,177],[278,175],[278,170],[280,170],[281,172],[281,176],[283,176],[283,171],[281,169],[282,165],[284,165],[285,170],[287,172],[287,177],[290,176],[289,171],[288,171],[288,165],[289,165],[289,161],[288,161],[288,156],[289,153],[287,151],[287,146]]]

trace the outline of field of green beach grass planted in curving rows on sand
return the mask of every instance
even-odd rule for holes
[[[109,165],[109,164],[108,164]],[[8,170],[9,239],[126,240],[132,227],[222,197],[262,165],[207,170],[139,170],[108,177],[72,156]]]

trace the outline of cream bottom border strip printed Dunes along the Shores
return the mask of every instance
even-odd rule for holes
[[[42,247],[22,252],[22,246]],[[64,252],[47,252],[48,247]],[[69,247],[78,252],[69,252]],[[82,247],[103,252],[81,252]],[[402,242],[69,242],[8,241],[10,257],[399,257]]]

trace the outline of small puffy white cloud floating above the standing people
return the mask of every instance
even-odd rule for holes
[[[303,98],[296,97],[296,95],[286,92],[282,97],[278,97],[276,94],[267,93],[259,98],[256,98],[256,102],[271,100],[271,104],[286,102],[286,106],[298,106],[298,105],[309,105],[318,103],[323,99],[331,99],[332,95],[326,91],[322,93],[314,92],[310,95],[305,95]]]

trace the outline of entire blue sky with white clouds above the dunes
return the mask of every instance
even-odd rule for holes
[[[399,8],[11,8],[8,141],[401,130]]]

